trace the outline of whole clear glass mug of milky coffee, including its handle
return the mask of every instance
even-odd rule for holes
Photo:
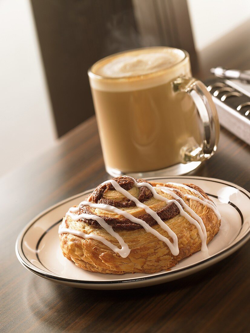
[[[215,105],[204,84],[192,77],[186,51],[121,52],[99,60],[88,75],[112,176],[179,175],[216,151]]]

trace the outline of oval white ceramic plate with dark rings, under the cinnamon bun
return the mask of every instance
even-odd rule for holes
[[[195,273],[229,256],[250,238],[250,193],[246,189],[228,181],[194,176],[155,177],[154,181],[196,184],[216,203],[222,215],[221,227],[208,244],[209,255],[199,251],[181,260],[171,270],[155,274],[101,274],[77,267],[61,252],[58,226],[69,207],[84,200],[92,192],[89,190],[52,206],[23,229],[16,242],[19,261],[32,273],[68,286],[87,289],[137,288]]]

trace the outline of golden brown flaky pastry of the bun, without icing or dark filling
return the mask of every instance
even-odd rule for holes
[[[118,178],[115,179],[117,180]],[[150,182],[150,184],[153,186],[156,186],[156,184],[164,185],[162,183],[154,182]],[[208,199],[208,196],[198,186],[192,184],[187,185],[198,190],[204,197]],[[167,186],[178,188],[182,193],[187,193],[198,197],[197,194],[190,192],[188,189],[183,187],[169,184]],[[158,194],[161,194],[168,199],[172,198],[171,195],[163,193],[159,189],[156,189],[156,191]],[[128,192],[137,198],[140,194],[139,189],[135,186],[132,186],[130,189],[128,189]],[[125,201],[125,197],[121,193],[117,192],[114,188],[106,188],[103,191],[102,196],[98,197],[97,199],[95,198],[95,193],[93,199],[93,193],[87,198],[87,200],[97,200],[96,202],[100,202],[99,200],[108,198],[115,201],[114,205],[118,201],[120,203]],[[180,196],[180,193],[176,192],[176,194]],[[185,199],[184,197],[182,197],[182,199],[187,205],[189,205],[191,209],[196,212],[196,214],[202,218],[207,231],[207,243],[210,242],[219,231],[220,220],[217,219],[212,209],[199,203],[198,201],[193,199]],[[154,211],[158,211],[159,209],[162,209],[164,206],[166,206],[164,201],[157,200],[150,195],[149,198],[147,198],[143,203]],[[136,217],[141,217],[143,214],[145,214],[144,209],[138,208],[136,206],[128,205],[127,207],[120,209],[125,210]],[[117,215],[113,212],[93,208],[91,208],[91,211],[101,217],[107,217],[107,223],[109,217],[113,218],[113,222],[115,218],[118,221],[118,224],[124,220],[123,216]],[[176,216],[164,222],[178,237],[179,254],[177,256],[172,255],[168,246],[164,242],[160,241],[153,234],[147,233],[144,228],[139,228],[137,230],[122,230],[122,227],[120,227],[120,230],[117,231],[124,239],[125,243],[128,244],[128,247],[131,249],[130,254],[126,258],[122,258],[119,254],[112,251],[108,246],[104,245],[100,241],[95,239],[84,239],[80,236],[75,236],[69,233],[63,233],[59,235],[60,244],[63,254],[66,258],[74,261],[77,266],[88,271],[114,274],[135,272],[155,273],[175,266],[181,259],[201,249],[201,239],[196,226],[191,224],[178,212]],[[79,221],[74,221],[71,217],[67,216],[66,218],[64,217],[64,223],[65,226],[70,229],[79,230],[87,234],[94,232],[102,237],[105,237],[107,240],[120,247],[118,241],[105,229],[103,229],[101,226],[92,225],[88,220],[82,219]],[[121,223],[119,225],[121,225]],[[172,241],[168,233],[158,224],[153,225],[153,228]]]

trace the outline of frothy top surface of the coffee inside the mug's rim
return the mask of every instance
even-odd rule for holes
[[[176,52],[177,51],[177,52]],[[96,74],[108,78],[140,76],[167,69],[184,58],[176,49],[153,49],[132,51],[123,56],[117,55],[110,62],[96,69]],[[100,64],[101,65],[101,64]]]

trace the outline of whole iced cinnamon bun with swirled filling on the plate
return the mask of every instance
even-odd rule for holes
[[[220,228],[213,201],[193,184],[107,180],[59,227],[66,258],[99,273],[155,273],[202,250]]]

